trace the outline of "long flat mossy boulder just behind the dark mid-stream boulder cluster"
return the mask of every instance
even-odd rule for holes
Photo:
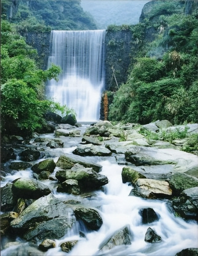
[[[62,169],[70,169],[75,164],[81,164],[85,168],[93,168],[93,170],[99,173],[102,170],[102,166],[99,164],[95,164],[94,162],[88,161],[84,159],[82,156],[64,154],[58,158],[56,166]]]

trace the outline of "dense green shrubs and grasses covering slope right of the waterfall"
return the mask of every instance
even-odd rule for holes
[[[157,37],[140,47],[127,82],[110,105],[109,120],[197,123],[197,14],[161,15],[154,25],[158,26]],[[144,39],[139,36],[138,41],[142,42]]]

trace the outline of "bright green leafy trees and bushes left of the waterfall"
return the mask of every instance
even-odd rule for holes
[[[52,101],[44,98],[44,82],[57,79],[60,68],[40,70],[15,25],[1,20],[1,132],[28,135],[44,125],[44,114]],[[55,104],[56,105],[56,104]]]

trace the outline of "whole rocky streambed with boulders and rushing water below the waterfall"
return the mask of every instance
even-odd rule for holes
[[[198,156],[140,126],[54,124],[2,148],[2,255],[198,255]]]

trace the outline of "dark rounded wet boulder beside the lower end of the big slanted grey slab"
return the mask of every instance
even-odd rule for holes
[[[97,210],[79,207],[74,211],[77,220],[81,220],[88,230],[98,230],[102,226],[102,218]]]

